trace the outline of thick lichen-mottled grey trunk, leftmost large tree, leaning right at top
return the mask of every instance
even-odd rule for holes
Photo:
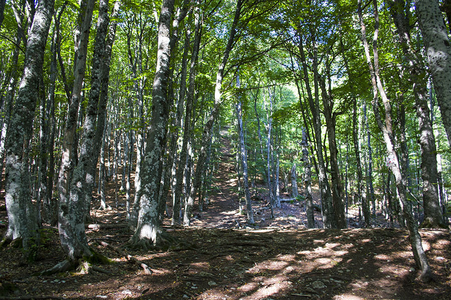
[[[38,2],[25,52],[24,73],[10,123],[10,127],[15,130],[8,132],[7,139],[5,201],[9,222],[1,244],[22,238],[22,246],[29,259],[34,258],[37,250],[39,232],[30,195],[27,145],[33,134],[33,119],[53,9],[53,0]]]

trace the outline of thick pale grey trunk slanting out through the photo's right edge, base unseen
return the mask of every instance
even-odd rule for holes
[[[415,0],[429,71],[451,147],[451,44],[437,0]]]

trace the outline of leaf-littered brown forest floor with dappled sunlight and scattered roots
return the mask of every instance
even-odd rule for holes
[[[149,252],[123,249],[146,263],[152,273],[130,263],[122,254],[102,245],[122,247],[132,232],[125,224],[125,196],[114,207],[114,187],[107,186],[110,208],[92,210],[100,225],[87,229],[93,249],[114,263],[102,265],[111,273],[77,271],[34,276],[65,258],[58,229],[44,226],[37,261],[22,259],[20,249],[0,250],[2,299],[451,299],[451,236],[449,230],[421,230],[433,280],[415,280],[407,231],[383,228],[379,214],[374,228],[306,229],[301,202],[282,203],[271,218],[265,188],[253,190],[258,227],[248,227],[239,212],[233,157],[221,156],[214,178],[215,191],[203,212],[195,212],[192,226],[163,228],[197,249]],[[284,195],[288,197],[288,195]],[[318,192],[315,192],[318,203]],[[243,201],[244,202],[244,201]],[[93,201],[98,207],[99,201]],[[245,204],[243,203],[243,206]],[[351,209],[350,213],[356,213]],[[315,212],[317,226],[320,213]],[[6,230],[4,191],[0,194],[0,234]],[[3,288],[3,290],[2,290]]]

